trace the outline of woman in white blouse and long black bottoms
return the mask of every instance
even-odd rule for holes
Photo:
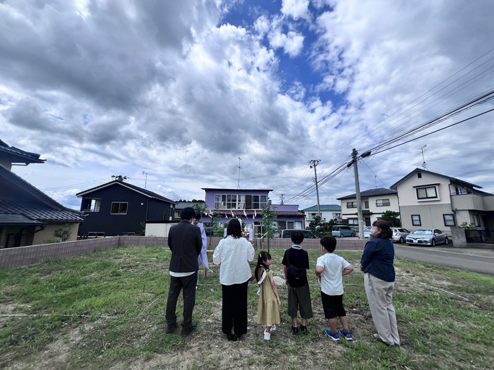
[[[228,340],[238,340],[247,333],[247,288],[252,280],[249,261],[254,259],[254,248],[242,237],[240,221],[228,223],[227,237],[219,241],[212,254],[219,264],[219,283],[223,292],[222,331]]]

